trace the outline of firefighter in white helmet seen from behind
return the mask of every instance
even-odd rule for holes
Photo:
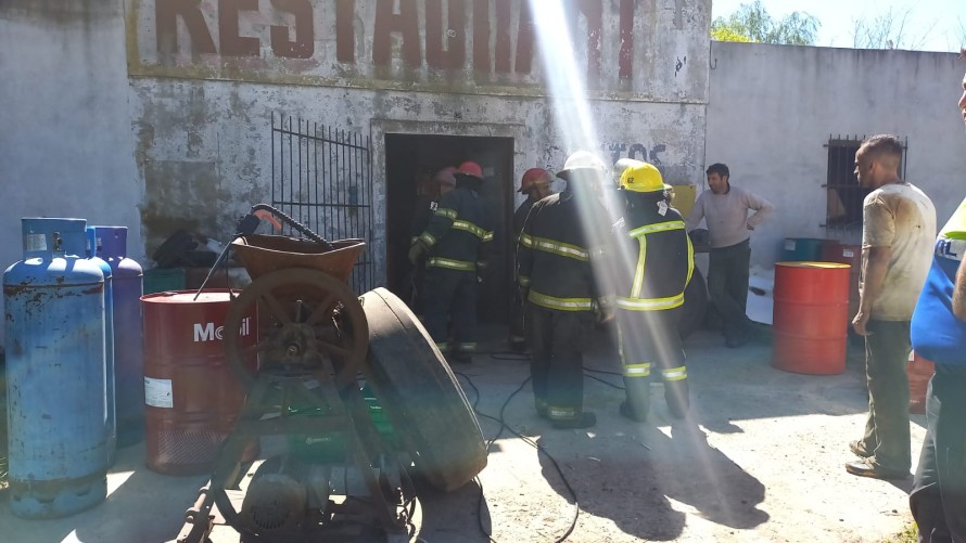
[[[597,423],[583,410],[583,351],[599,320],[613,315],[597,287],[592,263],[602,266],[607,219],[594,191],[607,176],[603,161],[579,151],[557,177],[567,190],[533,205],[518,245],[517,284],[526,300],[534,405],[556,428]]]

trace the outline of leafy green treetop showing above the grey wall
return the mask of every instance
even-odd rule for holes
[[[738,11],[711,23],[711,37],[719,41],[754,41],[788,46],[813,46],[822,23],[804,12],[780,21],[772,17],[760,0],[742,3]],[[738,39],[732,39],[738,38]]]

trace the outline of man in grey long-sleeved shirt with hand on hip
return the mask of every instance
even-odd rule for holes
[[[712,164],[706,171],[710,191],[695,202],[687,219],[690,232],[703,219],[708,224],[711,255],[708,290],[724,321],[725,345],[741,347],[751,335],[746,316],[748,267],[751,261],[749,232],[775,209],[766,199],[728,182],[730,173],[723,164]],[[754,211],[749,217],[748,211]]]

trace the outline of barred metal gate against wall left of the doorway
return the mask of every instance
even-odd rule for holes
[[[348,280],[356,293],[376,287],[372,192],[369,137],[272,114],[271,205],[329,241],[366,241]]]

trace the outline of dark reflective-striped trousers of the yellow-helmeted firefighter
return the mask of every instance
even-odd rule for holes
[[[652,369],[661,372],[671,415],[683,418],[688,411],[687,369],[677,333],[682,312],[679,307],[662,311],[618,311],[624,388],[635,418],[645,419],[650,409]]]

